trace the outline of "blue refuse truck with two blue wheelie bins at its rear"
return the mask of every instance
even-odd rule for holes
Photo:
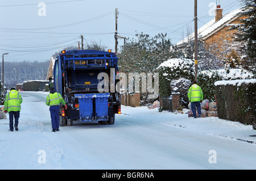
[[[98,121],[114,124],[115,113],[121,113],[118,87],[118,57],[112,50],[61,51],[53,66],[49,85],[63,96],[60,126],[73,121]]]

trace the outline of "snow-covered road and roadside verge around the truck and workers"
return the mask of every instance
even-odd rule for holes
[[[256,169],[251,125],[122,106],[114,125],[52,132],[48,92],[20,92],[19,131],[0,120],[0,169]]]

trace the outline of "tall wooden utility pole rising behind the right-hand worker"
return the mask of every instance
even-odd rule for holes
[[[197,60],[197,0],[195,0],[194,20],[195,20],[195,81],[196,81],[197,71],[198,71],[198,60]]]

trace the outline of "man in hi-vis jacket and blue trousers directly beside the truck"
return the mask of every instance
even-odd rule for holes
[[[52,132],[59,131],[60,103],[66,104],[60,93],[56,92],[54,87],[51,87],[50,93],[46,97],[46,105],[49,106],[51,113]]]

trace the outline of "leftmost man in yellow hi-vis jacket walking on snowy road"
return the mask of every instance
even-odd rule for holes
[[[13,131],[13,116],[14,116],[14,128],[18,131],[20,104],[22,103],[22,96],[14,88],[11,88],[10,92],[5,97],[4,110],[5,113],[9,113],[10,129]]]

